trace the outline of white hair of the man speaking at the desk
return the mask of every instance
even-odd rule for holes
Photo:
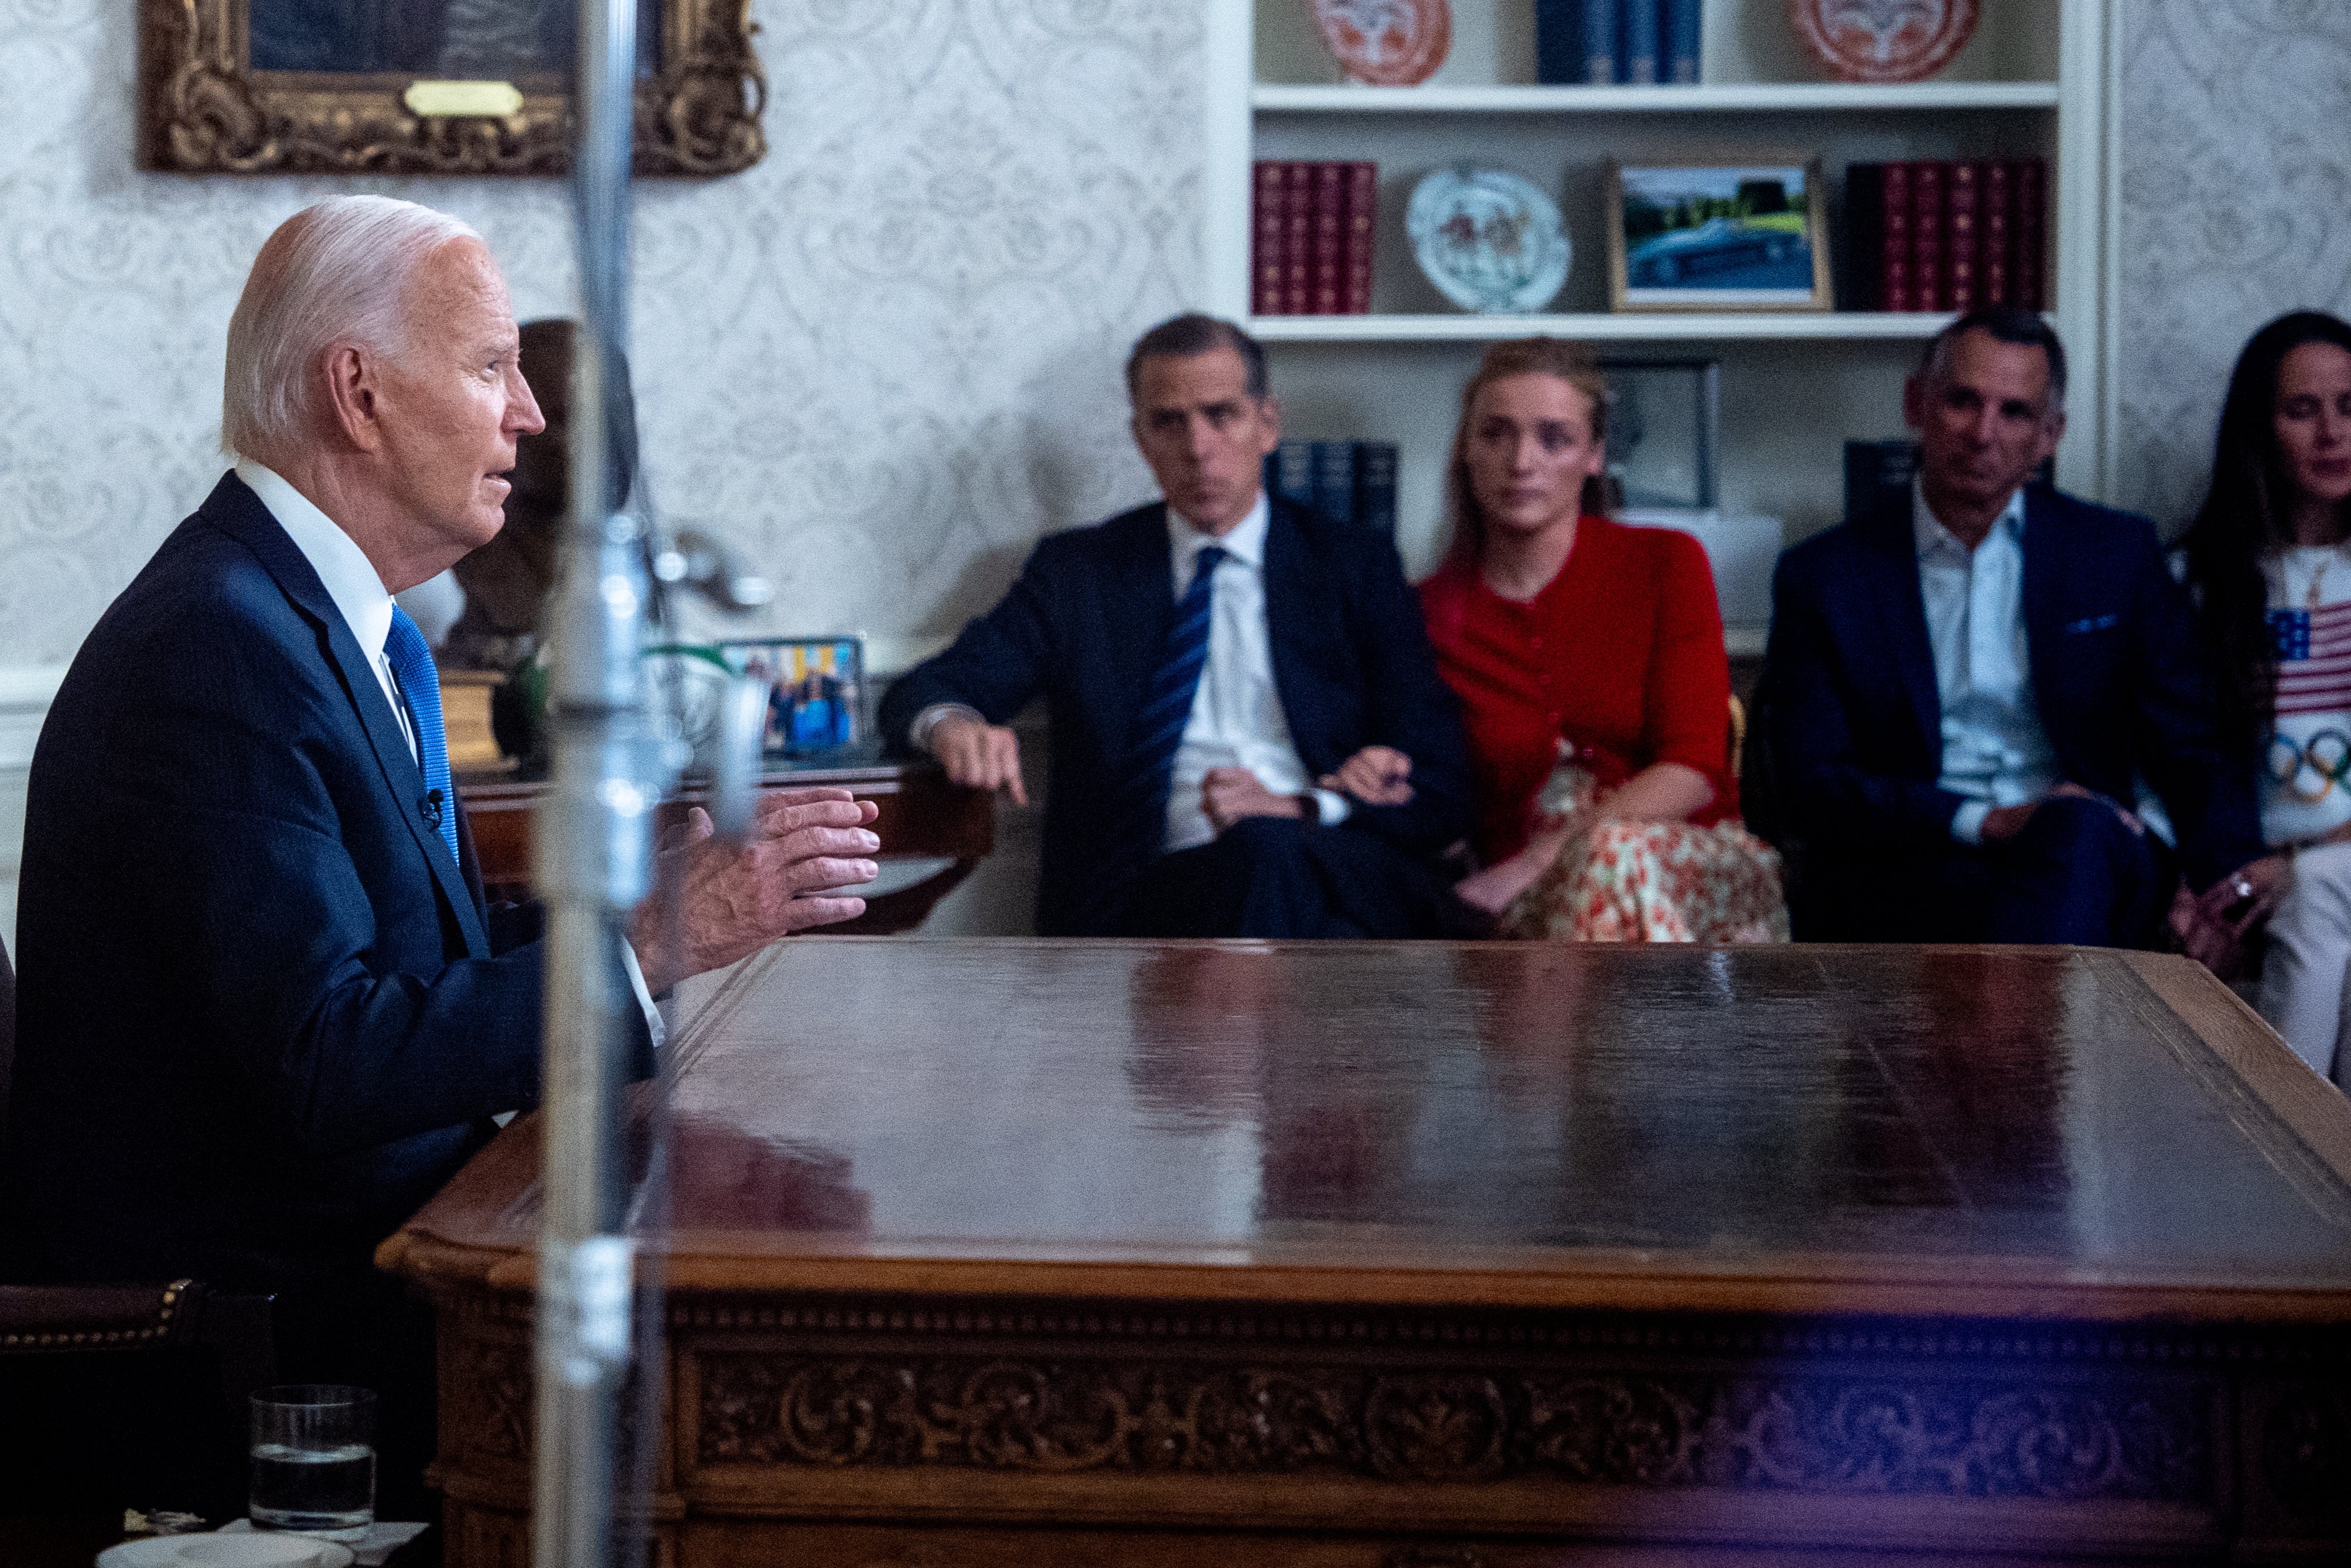
[[[336,195],[277,226],[254,256],[228,317],[221,376],[221,451],[284,458],[324,411],[320,360],[355,341],[397,355],[411,320],[409,280],[449,240],[480,240],[470,223],[388,195]]]

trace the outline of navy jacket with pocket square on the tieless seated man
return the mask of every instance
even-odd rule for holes
[[[2064,778],[2132,799],[2144,773],[2196,889],[2262,851],[2252,776],[2215,731],[2212,675],[2146,517],[2036,484],[2024,496],[2024,635]],[[1808,853],[1947,846],[1942,698],[1909,491],[1789,550],[1773,578],[1763,722]]]

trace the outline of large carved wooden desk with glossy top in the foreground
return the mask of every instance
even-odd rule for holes
[[[795,940],[677,1051],[665,1563],[2351,1559],[2351,1105],[2184,959]],[[534,1178],[383,1251],[458,1566]]]

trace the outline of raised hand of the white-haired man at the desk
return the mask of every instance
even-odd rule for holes
[[[856,919],[882,839],[865,827],[877,806],[849,790],[778,790],[759,797],[741,844],[712,837],[696,806],[656,863],[656,896],[637,907],[630,947],[651,992],[759,952],[778,936]],[[672,903],[675,900],[675,903]]]

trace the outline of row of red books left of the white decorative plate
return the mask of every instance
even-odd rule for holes
[[[1255,165],[1248,244],[1251,315],[1364,315],[1380,165]]]

